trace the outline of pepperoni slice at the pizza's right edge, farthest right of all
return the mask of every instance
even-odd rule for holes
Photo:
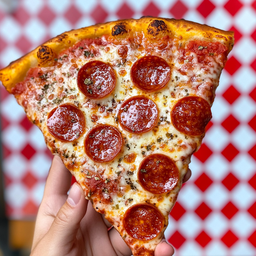
[[[198,96],[182,98],[174,105],[171,113],[174,127],[190,136],[199,136],[212,118],[210,105]]]

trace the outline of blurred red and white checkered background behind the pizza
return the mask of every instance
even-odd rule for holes
[[[212,121],[192,157],[192,178],[172,210],[175,256],[256,255],[256,1],[19,0],[0,10],[0,67],[72,28],[141,16],[185,18],[235,31]],[[40,130],[1,85],[6,214],[36,215],[51,163]]]

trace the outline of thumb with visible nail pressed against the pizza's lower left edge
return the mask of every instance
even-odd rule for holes
[[[81,186],[74,183],[65,204],[58,211],[48,235],[58,246],[74,243],[80,222],[86,214],[88,200],[85,199]]]

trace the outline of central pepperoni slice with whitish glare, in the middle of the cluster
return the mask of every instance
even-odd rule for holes
[[[156,124],[157,117],[156,104],[143,96],[134,96],[124,101],[118,112],[120,126],[136,134],[151,130]]]

